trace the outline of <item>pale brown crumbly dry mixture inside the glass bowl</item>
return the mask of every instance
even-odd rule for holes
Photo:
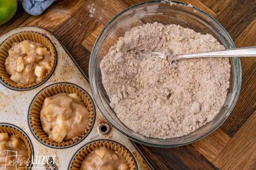
[[[145,136],[183,136],[212,121],[226,101],[230,63],[225,57],[170,61],[139,51],[173,55],[224,49],[210,34],[178,25],[144,24],[120,37],[102,59],[110,106],[130,129]]]

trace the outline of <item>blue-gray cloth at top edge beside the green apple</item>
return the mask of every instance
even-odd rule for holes
[[[48,8],[54,0],[23,0],[22,6],[30,15],[40,15]]]

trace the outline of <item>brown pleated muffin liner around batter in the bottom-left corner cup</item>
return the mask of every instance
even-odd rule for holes
[[[28,139],[28,137],[24,134],[24,132],[22,132],[21,130],[19,130],[18,128],[16,128],[14,125],[9,125],[9,124],[5,124],[5,123],[1,123],[0,124],[0,133],[8,133],[9,136],[10,135],[17,135],[20,137],[20,139],[26,144],[26,147],[28,149],[28,159],[29,159],[29,165],[27,166],[28,169],[31,168],[32,164],[31,164],[31,158],[32,158],[32,152],[33,152],[33,148],[32,148],[32,144],[30,142],[30,140]]]

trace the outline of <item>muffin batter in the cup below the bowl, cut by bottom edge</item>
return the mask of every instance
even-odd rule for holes
[[[96,148],[82,161],[80,170],[129,170],[126,160],[105,147]]]

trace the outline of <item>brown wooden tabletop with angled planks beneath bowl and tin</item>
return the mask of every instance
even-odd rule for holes
[[[104,25],[120,11],[144,0],[57,0],[40,16],[24,12],[19,0],[4,34],[20,26],[54,32],[85,73],[92,45]],[[228,31],[237,47],[256,45],[255,0],[182,0],[207,12]],[[95,11],[93,10],[95,9]],[[156,170],[256,169],[256,58],[242,58],[242,89],[228,120],[208,137],[178,148],[138,144]],[[69,161],[69,160],[68,160]]]

